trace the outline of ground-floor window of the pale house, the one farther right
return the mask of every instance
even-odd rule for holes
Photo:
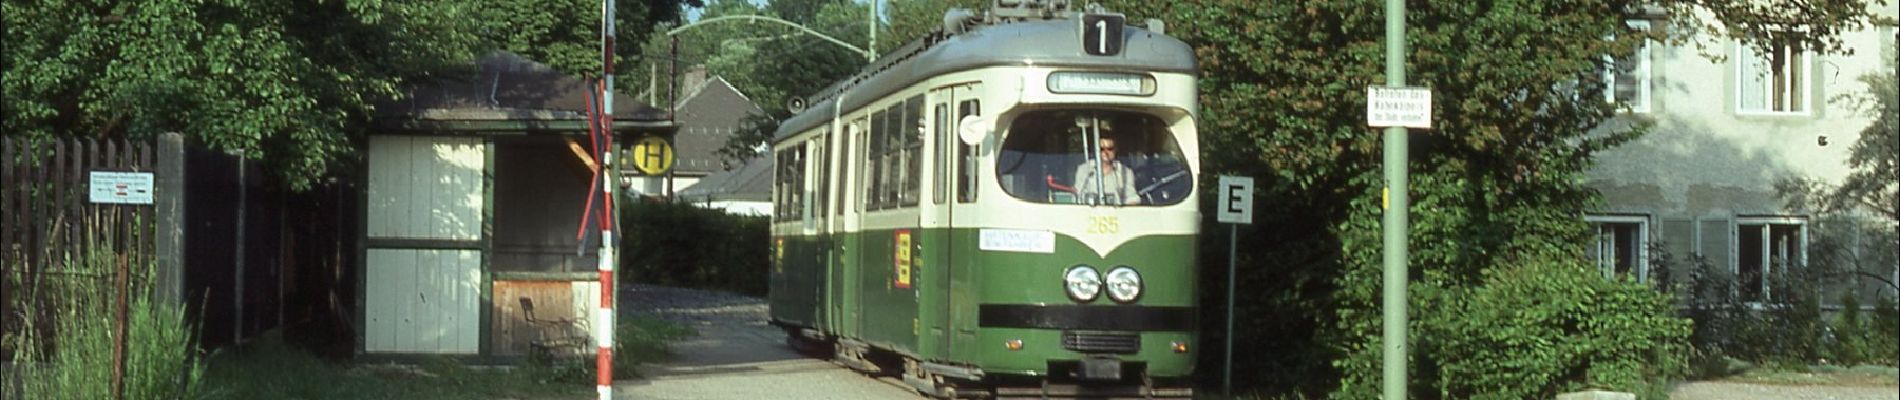
[[[1801,218],[1737,218],[1735,282],[1744,301],[1771,300],[1776,273],[1807,264],[1807,224]]]

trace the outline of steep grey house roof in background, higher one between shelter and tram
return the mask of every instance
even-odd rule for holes
[[[678,100],[678,133],[673,136],[676,163],[673,171],[676,174],[726,171],[718,150],[726,146],[726,138],[745,129],[747,118],[764,114],[766,110],[758,108],[745,93],[739,93],[726,78],[714,76],[694,87],[692,93]]]

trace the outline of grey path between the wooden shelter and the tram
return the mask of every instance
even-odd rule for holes
[[[621,313],[678,320],[699,336],[674,343],[673,360],[640,366],[644,379],[616,381],[616,398],[920,398],[889,379],[794,353],[785,332],[766,324],[764,300],[650,284],[621,286],[619,296]]]

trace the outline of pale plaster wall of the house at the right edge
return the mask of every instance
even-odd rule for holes
[[[1881,13],[1890,17],[1894,11]],[[1655,27],[1666,28],[1661,21]],[[1816,241],[1858,243],[1856,256],[1877,264],[1883,277],[1892,275],[1890,243],[1883,246],[1854,233],[1818,229],[1818,216],[1786,207],[1775,182],[1839,184],[1849,174],[1851,146],[1872,118],[1843,95],[1866,93],[1860,76],[1890,68],[1885,57],[1894,57],[1889,51],[1894,30],[1847,32],[1852,55],[1809,55],[1797,64],[1809,82],[1807,91],[1797,93],[1809,106],[1788,114],[1740,110],[1744,49],[1729,40],[1699,40],[1706,47],[1651,47],[1649,110],[1630,112],[1617,123],[1651,121],[1653,131],[1598,154],[1590,176],[1606,205],[1592,218],[1640,224],[1649,243],[1678,260],[1700,254],[1727,271],[1748,269],[1748,252],[1771,246],[1752,239],[1761,231],[1754,224],[1786,224],[1797,229],[1799,254]],[[1862,286],[1862,294],[1892,296],[1885,284]]]

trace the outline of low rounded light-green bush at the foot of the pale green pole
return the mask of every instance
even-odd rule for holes
[[[1414,288],[1417,398],[1554,398],[1581,389],[1664,398],[1668,379],[1687,368],[1689,322],[1672,315],[1670,298],[1583,262],[1533,260],[1488,269],[1478,286]],[[1378,353],[1357,355],[1364,360],[1347,364],[1343,394],[1370,398]]]

